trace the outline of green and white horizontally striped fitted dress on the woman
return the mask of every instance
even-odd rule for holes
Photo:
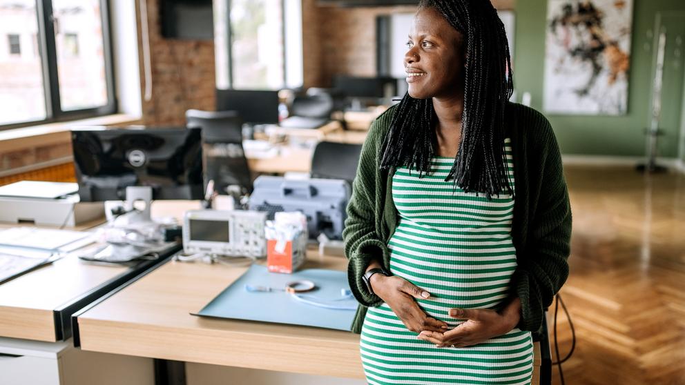
[[[510,139],[505,139],[509,177],[514,182]],[[436,157],[423,178],[398,168],[392,197],[400,215],[389,241],[390,270],[428,290],[417,300],[450,328],[461,324],[450,308],[494,308],[507,297],[517,267],[511,226],[514,199],[454,190],[445,181],[454,159]],[[506,335],[466,348],[436,348],[417,339],[383,304],[369,308],[360,352],[369,384],[530,384],[530,332]]]

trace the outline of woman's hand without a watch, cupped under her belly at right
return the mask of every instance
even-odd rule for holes
[[[438,348],[454,346],[464,348],[481,344],[488,339],[509,333],[519,323],[521,302],[517,298],[501,312],[490,309],[458,309],[450,310],[450,317],[466,319],[465,322],[452,330],[443,333],[424,330],[418,339],[436,344]]]

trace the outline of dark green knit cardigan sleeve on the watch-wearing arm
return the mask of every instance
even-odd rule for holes
[[[352,195],[347,204],[347,219],[343,230],[347,279],[357,301],[363,306],[380,306],[383,300],[369,292],[362,277],[371,261],[383,263],[389,259],[387,245],[380,237],[380,223],[377,212],[383,210],[380,202],[384,184],[378,167],[378,151],[383,142],[383,129],[387,126],[388,112],[372,123],[369,134],[362,146],[356,176],[352,184]]]

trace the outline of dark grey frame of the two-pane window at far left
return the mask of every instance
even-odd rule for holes
[[[61,109],[59,97],[59,75],[57,71],[57,44],[55,41],[55,22],[52,17],[52,0],[35,0],[36,16],[38,19],[38,46],[41,58],[41,72],[45,95],[46,119],[22,121],[12,124],[0,124],[0,131],[37,126],[39,124],[56,123],[89,117],[100,117],[117,112],[117,99],[113,68],[112,34],[110,18],[110,0],[99,0],[100,17],[102,23],[102,50],[105,65],[105,83],[107,88],[107,103],[104,106],[82,108],[64,111]]]

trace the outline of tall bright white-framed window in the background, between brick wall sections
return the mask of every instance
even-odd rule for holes
[[[217,88],[302,86],[298,0],[214,1]]]

